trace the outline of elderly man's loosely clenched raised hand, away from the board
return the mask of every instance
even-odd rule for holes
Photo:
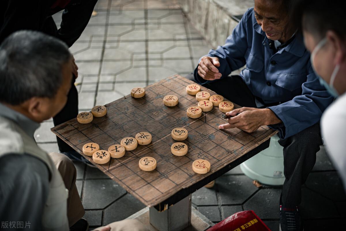
[[[198,74],[204,80],[217,80],[222,76],[216,68],[219,66],[219,58],[204,56],[198,64]]]

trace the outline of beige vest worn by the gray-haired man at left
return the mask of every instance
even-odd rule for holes
[[[44,230],[68,231],[68,190],[52,159],[40,149],[33,137],[27,135],[16,123],[0,116],[0,158],[11,153],[29,154],[42,160],[48,167],[51,179],[49,193],[42,214]]]

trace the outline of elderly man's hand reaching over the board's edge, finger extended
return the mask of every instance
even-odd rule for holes
[[[219,129],[239,128],[246,132],[254,132],[263,125],[281,123],[274,112],[268,108],[237,108],[227,112],[226,115],[233,117],[228,119],[228,123],[221,124]]]

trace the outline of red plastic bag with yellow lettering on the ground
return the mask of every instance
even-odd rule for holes
[[[271,231],[253,210],[235,213],[207,231]]]

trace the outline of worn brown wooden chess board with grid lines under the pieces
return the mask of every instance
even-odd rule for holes
[[[195,96],[185,91],[186,86],[192,83],[179,75],[166,78],[145,87],[143,98],[127,95],[106,104],[104,117],[95,117],[88,124],[72,119],[52,128],[52,131],[93,164],[92,158],[82,153],[84,144],[95,142],[100,149],[108,150],[109,146],[120,144],[124,137],[135,137],[142,131],[151,133],[151,144],[138,145],[135,150],[126,151],[124,157],[111,158],[109,163],[95,166],[145,205],[155,206],[161,211],[267,148],[270,137],[276,134],[266,126],[253,133],[237,128],[219,130],[218,125],[227,121],[221,117],[218,107],[203,112],[198,119],[187,117],[186,109],[198,104]],[[201,91],[215,94],[203,86]],[[178,96],[179,104],[166,107],[163,104],[165,95]],[[235,108],[239,106],[235,105]],[[178,142],[172,139],[171,131],[177,127],[188,130],[188,138],[179,141],[189,147],[185,156],[171,153],[171,145]],[[157,160],[155,170],[140,170],[138,161],[144,156]],[[208,160],[210,172],[194,173],[192,162],[196,159]]]

